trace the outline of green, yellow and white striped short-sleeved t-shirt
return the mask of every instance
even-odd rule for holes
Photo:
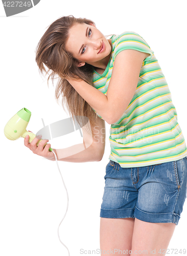
[[[104,73],[100,75],[93,69],[94,87],[105,95],[119,52],[133,49],[150,55],[142,63],[137,89],[127,109],[116,123],[111,124],[109,159],[121,167],[139,167],[187,156],[171,92],[154,52],[132,31],[111,38],[112,54]]]

